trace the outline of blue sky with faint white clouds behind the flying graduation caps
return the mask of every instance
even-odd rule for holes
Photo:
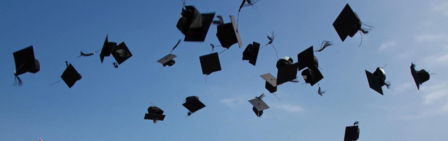
[[[363,22],[375,26],[341,42],[332,27],[349,3]],[[224,22],[237,15],[240,0],[187,0],[199,12],[216,12]],[[260,0],[241,10],[237,45],[220,54],[222,71],[202,75],[199,56],[219,44],[211,25],[203,43],[182,42],[176,64],[156,62],[184,35],[176,28],[181,0],[13,0],[0,4],[0,139],[4,141],[342,141],[345,126],[359,121],[359,141],[437,141],[448,137],[448,2],[443,0]],[[315,53],[324,79],[317,86],[285,83],[277,100],[264,89],[266,73],[276,74],[274,50],[258,54],[257,66],[242,61],[252,41],[273,42],[279,58],[297,54],[318,41],[334,45]],[[118,69],[115,60],[76,58],[80,50],[99,50],[125,41],[134,55]],[[13,87],[13,52],[34,46],[41,69],[20,75]],[[224,48],[217,47],[215,51]],[[71,89],[60,82],[69,61],[82,74]],[[431,79],[417,91],[409,72],[429,70]],[[364,69],[384,69],[392,89],[379,95],[368,87]],[[271,108],[262,118],[247,100],[260,93]],[[188,118],[182,99],[197,95],[207,105]],[[143,120],[153,102],[167,115],[153,124]]]

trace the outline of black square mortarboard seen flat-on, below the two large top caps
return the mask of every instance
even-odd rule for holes
[[[207,54],[199,57],[202,74],[210,75],[212,72],[221,71],[220,58],[218,53]]]

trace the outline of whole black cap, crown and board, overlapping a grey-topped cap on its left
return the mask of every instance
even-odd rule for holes
[[[292,81],[297,78],[298,63],[293,64],[292,62],[293,59],[287,56],[277,61],[277,85]]]

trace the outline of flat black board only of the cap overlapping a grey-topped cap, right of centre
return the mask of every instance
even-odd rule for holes
[[[298,63],[280,66],[277,71],[277,85],[296,79],[297,66]]]

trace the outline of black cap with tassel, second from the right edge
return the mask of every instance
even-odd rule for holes
[[[387,88],[390,88],[390,82],[385,81],[386,80],[386,74],[384,73],[383,68],[378,67],[376,68],[375,72],[372,74],[369,71],[366,71],[367,81],[369,82],[369,87],[376,92],[378,92],[381,95],[383,94],[383,87],[386,85]]]

